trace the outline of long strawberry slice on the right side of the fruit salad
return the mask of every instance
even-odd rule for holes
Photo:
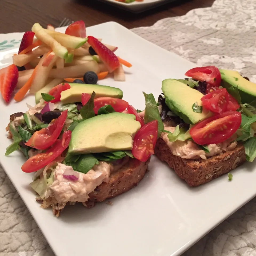
[[[89,35],[87,42],[91,47],[93,47],[93,50],[99,55],[105,65],[107,65],[109,73],[113,72],[120,66],[117,55],[103,45],[103,43],[101,43],[97,38]]]

